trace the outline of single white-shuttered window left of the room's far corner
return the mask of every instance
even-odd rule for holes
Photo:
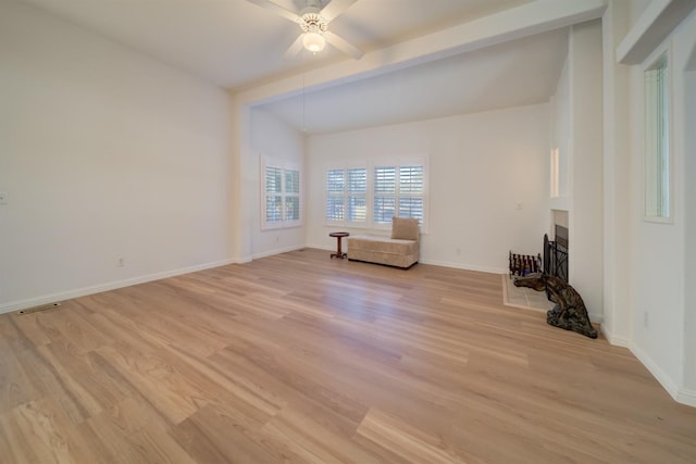
[[[301,224],[300,170],[290,162],[264,159],[261,173],[261,228],[295,227]]]

